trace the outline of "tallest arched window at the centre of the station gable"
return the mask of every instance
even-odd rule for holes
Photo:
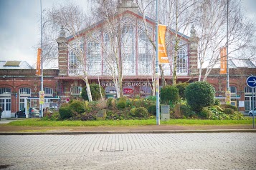
[[[121,40],[123,75],[136,74],[135,40],[134,26],[132,24],[123,24]]]

